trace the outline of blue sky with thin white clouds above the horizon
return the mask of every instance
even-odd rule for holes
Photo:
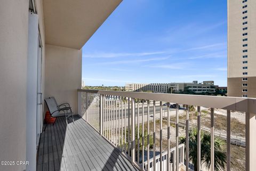
[[[82,79],[227,86],[227,1],[124,0],[83,46]]]

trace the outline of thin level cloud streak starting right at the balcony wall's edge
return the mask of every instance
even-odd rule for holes
[[[118,58],[118,57],[127,57],[127,56],[149,56],[149,55],[157,55],[157,54],[164,54],[165,51],[159,52],[139,52],[139,53],[90,53],[84,54],[84,58]]]

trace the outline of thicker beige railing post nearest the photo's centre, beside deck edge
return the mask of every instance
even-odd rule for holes
[[[131,143],[131,157],[132,164],[135,163],[135,99],[131,99],[132,102],[132,143]]]

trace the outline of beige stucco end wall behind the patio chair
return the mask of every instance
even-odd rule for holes
[[[77,88],[82,81],[82,50],[45,45],[45,98],[70,103],[77,114]],[[45,113],[45,112],[44,112]]]

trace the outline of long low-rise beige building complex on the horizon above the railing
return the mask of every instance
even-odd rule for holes
[[[125,85],[126,91],[134,92],[147,92],[151,91],[154,93],[177,93],[189,89],[195,93],[215,93],[218,86],[214,85],[213,81],[204,81],[203,83],[198,83],[193,81],[193,83],[150,83],[150,84],[137,84],[128,83]]]

